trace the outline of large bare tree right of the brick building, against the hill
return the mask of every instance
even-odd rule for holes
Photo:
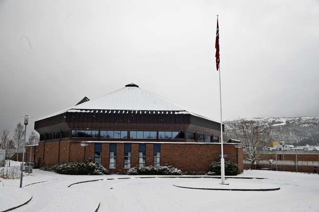
[[[269,142],[271,141],[270,129],[267,125],[252,120],[239,119],[228,123],[229,134],[241,141],[244,148],[244,157],[251,161],[261,159]]]

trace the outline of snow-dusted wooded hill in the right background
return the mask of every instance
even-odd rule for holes
[[[319,145],[319,117],[297,118],[245,118],[265,124],[270,128],[273,141],[292,145]],[[225,130],[227,130],[226,121]]]

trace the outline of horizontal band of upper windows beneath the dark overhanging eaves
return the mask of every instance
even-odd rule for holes
[[[128,136],[129,134],[129,136]],[[123,131],[123,130],[72,130],[72,138],[106,138],[106,139],[185,139],[182,131]],[[197,138],[196,138],[197,136]],[[40,141],[70,138],[70,131],[46,133],[40,135]],[[187,140],[219,142],[217,136],[186,132]]]

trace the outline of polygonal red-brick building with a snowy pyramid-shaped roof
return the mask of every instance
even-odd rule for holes
[[[190,99],[191,100],[191,99]],[[117,172],[136,165],[174,164],[182,171],[208,171],[220,160],[220,123],[135,84],[35,122],[39,165],[92,160]],[[224,144],[226,160],[239,164],[242,148]],[[28,150],[30,151],[30,150]]]

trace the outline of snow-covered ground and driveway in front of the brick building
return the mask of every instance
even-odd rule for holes
[[[99,212],[319,211],[319,175],[245,170],[237,178],[226,178],[229,185],[220,185],[220,182],[216,178],[169,176],[68,176],[35,169],[30,176],[23,177],[23,188],[19,188],[20,179],[0,178],[0,211],[19,206],[31,197],[27,204],[13,211],[94,212],[98,207]],[[220,191],[186,189],[174,185],[280,189]]]

